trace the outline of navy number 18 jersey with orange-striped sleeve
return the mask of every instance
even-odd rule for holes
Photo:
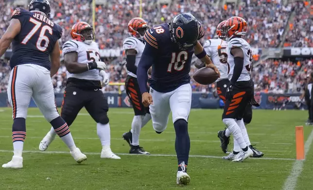
[[[185,51],[179,49],[171,40],[169,24],[156,25],[147,30],[144,40],[144,54],[153,57],[149,84],[154,90],[166,93],[190,83],[189,72],[194,48]]]

